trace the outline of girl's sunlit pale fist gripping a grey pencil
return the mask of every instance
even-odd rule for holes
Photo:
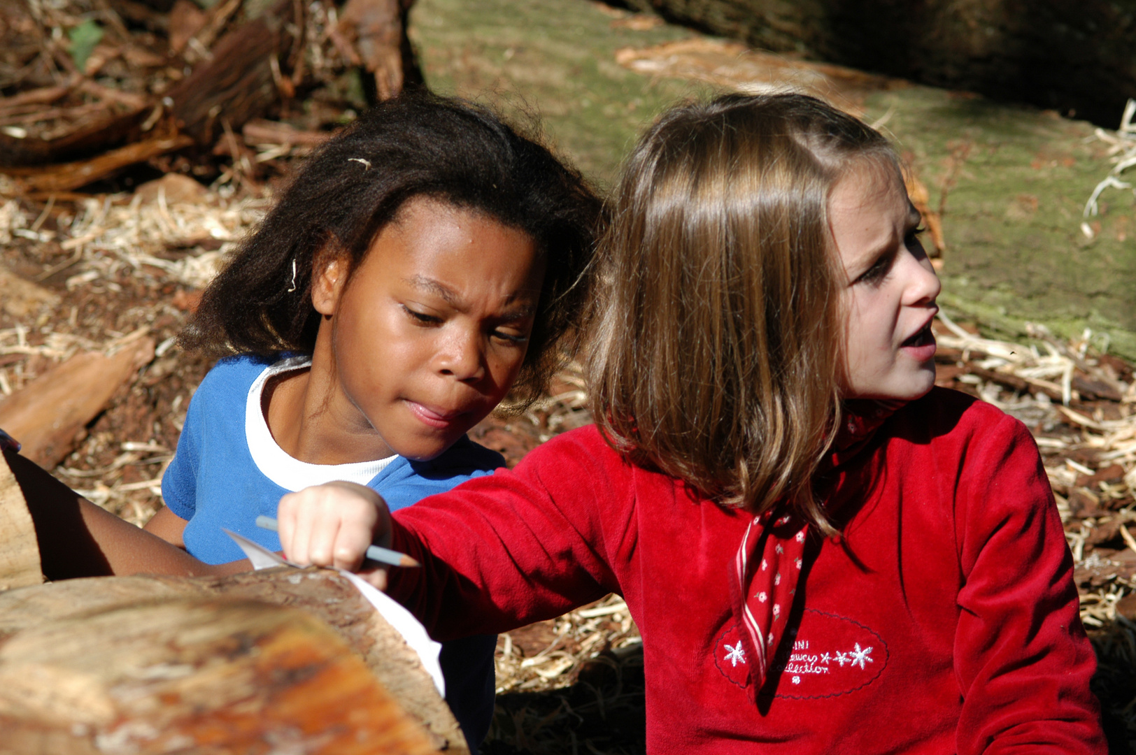
[[[391,538],[386,502],[357,483],[328,483],[289,493],[281,498],[276,519],[284,554],[299,564],[359,571],[374,538],[381,538],[379,545]],[[386,586],[385,570],[362,576],[381,589]]]

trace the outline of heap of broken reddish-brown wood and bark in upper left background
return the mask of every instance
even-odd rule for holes
[[[265,162],[326,139],[344,112],[366,107],[368,91],[383,99],[408,76],[418,81],[406,39],[410,2],[208,5],[178,0],[160,12],[137,0],[5,3],[0,173],[9,181],[0,195],[47,199],[139,165],[212,181],[226,166],[202,153],[236,161],[248,149],[242,127],[267,118],[277,133],[303,136],[228,167],[229,179],[240,173],[259,186]],[[359,72],[369,86],[359,89]]]

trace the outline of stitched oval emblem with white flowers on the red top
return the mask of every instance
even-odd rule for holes
[[[718,638],[715,664],[738,687],[747,681],[749,658],[735,624]],[[774,658],[774,697],[817,699],[847,695],[867,687],[887,666],[887,643],[859,621],[805,609]],[[766,687],[762,694],[768,694]]]

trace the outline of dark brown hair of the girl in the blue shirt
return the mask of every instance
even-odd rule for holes
[[[183,347],[214,356],[311,353],[312,265],[358,268],[411,198],[429,196],[528,234],[546,261],[528,351],[510,394],[527,406],[575,353],[601,203],[580,175],[488,109],[424,92],[387,100],[314,153],[206,288]],[[293,274],[294,270],[294,274]],[[293,285],[294,275],[294,285]]]

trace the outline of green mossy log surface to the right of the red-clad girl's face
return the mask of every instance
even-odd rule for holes
[[[1088,219],[1094,237],[1080,229],[1085,201],[1111,167],[1093,126],[927,87],[868,101],[869,118],[888,109],[887,128],[933,208],[947,188],[946,296],[984,322],[1106,330],[1117,352],[1136,356],[1131,193],[1106,191]]]

